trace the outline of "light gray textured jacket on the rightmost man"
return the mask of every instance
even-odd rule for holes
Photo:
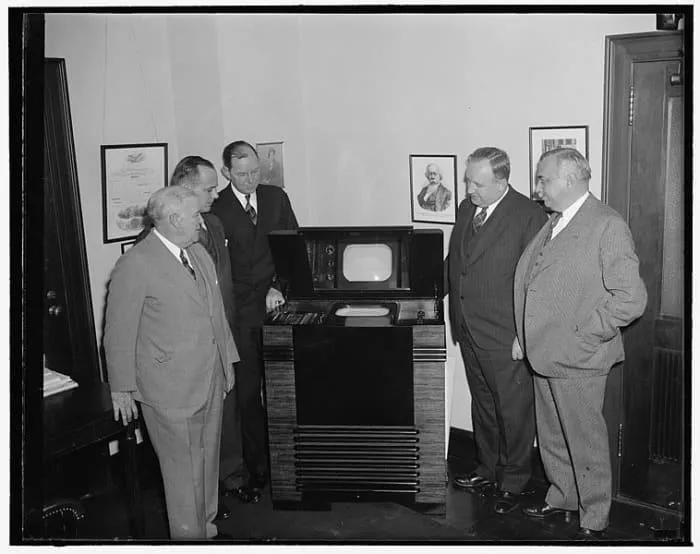
[[[515,272],[518,340],[540,375],[605,375],[624,359],[620,327],[641,316],[647,301],[632,233],[592,195],[543,247],[549,227]]]

